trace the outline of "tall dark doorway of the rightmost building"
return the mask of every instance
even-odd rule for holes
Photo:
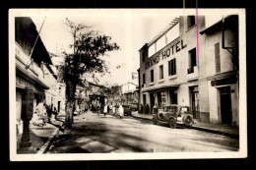
[[[230,86],[220,88],[221,116],[223,124],[232,123]]]

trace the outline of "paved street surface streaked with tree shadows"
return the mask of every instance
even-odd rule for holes
[[[236,151],[239,141],[192,129],[170,129],[129,116],[75,117],[74,130],[60,135],[47,153]]]

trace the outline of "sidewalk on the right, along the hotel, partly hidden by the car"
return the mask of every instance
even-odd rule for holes
[[[132,116],[135,118],[152,120],[152,115],[140,114],[140,113],[138,113],[138,111],[132,112]],[[195,121],[192,128],[196,129],[196,130],[200,130],[200,131],[205,131],[205,132],[209,132],[209,133],[228,136],[228,137],[235,138],[235,139],[239,138],[239,129],[238,128],[234,128],[234,127],[224,125],[224,124],[210,124],[210,123],[203,123],[203,122]]]

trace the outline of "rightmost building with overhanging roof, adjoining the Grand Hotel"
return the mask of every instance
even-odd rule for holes
[[[200,31],[205,47],[200,79],[201,112],[211,123],[239,125],[238,15],[225,16]],[[201,95],[201,94],[200,94]]]

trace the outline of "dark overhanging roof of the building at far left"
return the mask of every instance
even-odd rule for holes
[[[15,41],[25,49],[28,55],[31,55],[32,46],[37,35],[38,32],[30,17],[15,18]],[[40,36],[38,36],[34,46],[32,59],[37,64],[40,64],[41,61],[47,64],[52,64],[50,56],[41,41]]]

